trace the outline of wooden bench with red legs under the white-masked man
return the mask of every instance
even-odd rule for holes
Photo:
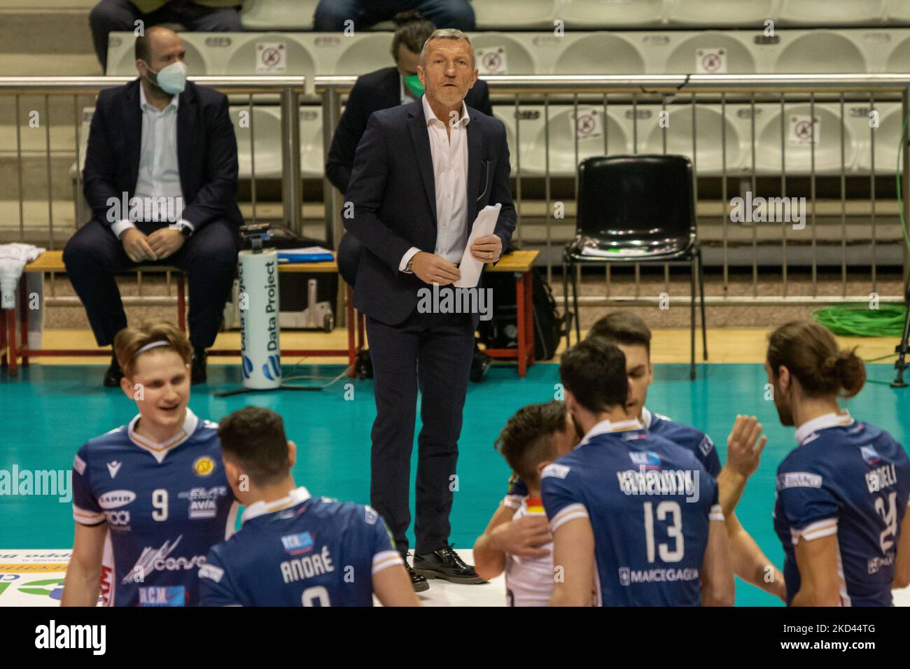
[[[147,265],[140,266],[142,271],[172,271],[177,274],[177,325],[183,331],[187,330],[187,297],[186,285],[183,271],[164,265]],[[284,264],[278,266],[279,272],[319,272],[319,273],[338,273],[338,264],[332,260],[330,262],[311,262],[298,264]],[[29,349],[28,348],[28,296],[25,294],[25,274],[28,272],[66,272],[63,264],[63,251],[45,251],[34,262],[25,265],[22,278],[19,280],[19,329],[22,340],[21,347],[16,344],[16,310],[0,309],[0,363],[3,366],[9,366],[9,375],[15,377],[18,374],[18,359],[22,359],[22,366],[28,366],[29,358],[35,356],[108,356],[110,349]],[[354,376],[354,362],[357,355],[363,349],[364,335],[364,317],[359,314],[356,318],[350,286],[347,287],[347,324],[348,324],[348,348],[346,349],[282,349],[282,355],[289,356],[344,356],[348,359],[350,366],[348,375]],[[239,350],[208,350],[210,356],[239,356]]]

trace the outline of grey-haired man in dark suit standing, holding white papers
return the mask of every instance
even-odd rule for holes
[[[437,30],[420,53],[425,93],[409,105],[369,117],[354,158],[346,199],[349,233],[366,248],[354,306],[367,315],[377,417],[371,433],[370,503],[408,551],[410,453],[417,391],[417,538],[411,580],[425,576],[480,583],[449,544],[457,481],[461,412],[478,313],[419,309],[419,291],[460,279],[470,228],[480,209],[501,203],[494,234],[477,238],[473,258],[496,262],[515,229],[509,147],[502,122],[464,103],[477,81],[470,39]],[[422,300],[421,300],[422,303]]]

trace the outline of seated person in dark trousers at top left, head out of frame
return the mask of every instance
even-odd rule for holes
[[[197,33],[239,33],[240,0],[99,0],[88,13],[95,53],[107,72],[107,35],[159,24],[181,24]]]

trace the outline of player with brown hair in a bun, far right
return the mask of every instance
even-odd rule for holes
[[[809,321],[771,334],[764,363],[774,406],[799,446],[777,470],[774,530],[791,606],[889,606],[910,581],[910,461],[890,434],[854,421],[837,398],[865,368]]]

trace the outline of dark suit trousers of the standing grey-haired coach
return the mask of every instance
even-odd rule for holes
[[[407,552],[410,456],[420,387],[415,551],[449,542],[461,411],[468,390],[474,328],[470,314],[421,314],[397,326],[367,319],[376,393],[371,433],[370,504],[389,524],[399,552]]]

